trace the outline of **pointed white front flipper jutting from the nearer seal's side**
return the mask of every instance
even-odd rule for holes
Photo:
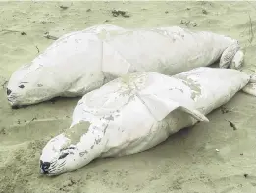
[[[181,105],[179,102],[173,101],[172,99],[160,98],[156,95],[137,95],[137,97],[144,103],[150,113],[156,119],[156,121],[162,121],[169,113],[179,109],[180,111],[186,112],[198,121],[209,122],[201,112],[196,109],[192,109],[187,105]]]

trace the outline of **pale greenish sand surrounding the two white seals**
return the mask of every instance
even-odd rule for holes
[[[241,42],[245,68],[253,69],[256,3],[26,1],[0,5],[1,30],[13,30],[0,32],[1,193],[256,192],[255,97],[237,93],[225,108],[208,115],[210,123],[185,128],[146,152],[99,159],[75,172],[47,177],[39,174],[40,152],[50,137],[70,125],[78,98],[12,110],[4,84],[19,66],[53,42],[43,37],[46,32],[58,37],[94,24],[181,25],[223,33]],[[113,17],[113,9],[127,11],[130,17]]]

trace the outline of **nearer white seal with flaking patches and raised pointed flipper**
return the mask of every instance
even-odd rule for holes
[[[209,67],[174,76],[157,72],[124,75],[79,100],[70,128],[42,150],[40,169],[59,175],[93,159],[148,150],[227,103],[250,76]]]

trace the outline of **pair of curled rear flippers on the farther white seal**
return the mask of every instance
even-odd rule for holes
[[[241,67],[243,62],[243,52],[240,50],[238,41],[233,42],[226,50],[223,52],[220,59],[220,68],[231,68],[238,69]]]

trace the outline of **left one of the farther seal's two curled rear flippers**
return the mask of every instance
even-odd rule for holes
[[[229,68],[233,57],[239,49],[240,46],[238,41],[233,42],[228,48],[226,48],[221,56],[219,67],[224,69]]]

